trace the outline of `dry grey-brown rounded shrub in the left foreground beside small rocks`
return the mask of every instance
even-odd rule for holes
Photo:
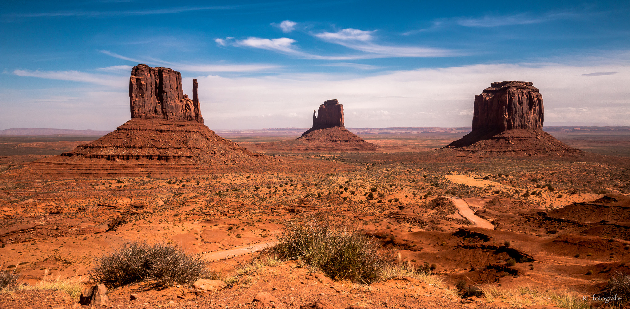
[[[192,283],[210,273],[207,262],[170,244],[132,242],[96,259],[89,278],[109,288],[140,281],[167,287],[173,283]]]

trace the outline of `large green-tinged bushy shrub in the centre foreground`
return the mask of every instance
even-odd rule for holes
[[[374,239],[356,227],[332,225],[306,218],[302,223],[286,222],[273,251],[284,259],[301,259],[335,280],[372,283],[379,279],[384,259]]]

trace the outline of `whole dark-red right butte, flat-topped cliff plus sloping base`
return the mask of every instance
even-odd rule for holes
[[[475,96],[473,131],[445,149],[484,155],[560,155],[580,150],[542,130],[542,95],[532,82],[493,82]]]

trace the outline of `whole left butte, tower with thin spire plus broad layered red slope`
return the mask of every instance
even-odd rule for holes
[[[203,125],[196,79],[190,99],[183,94],[180,72],[139,64],[131,74],[131,120],[94,142],[29,167],[60,177],[178,176],[278,161],[253,154]]]

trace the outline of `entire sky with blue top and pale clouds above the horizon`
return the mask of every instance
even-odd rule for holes
[[[0,130],[110,130],[131,67],[200,82],[215,130],[469,126],[490,82],[532,81],[546,125],[630,125],[628,1],[4,1]]]

